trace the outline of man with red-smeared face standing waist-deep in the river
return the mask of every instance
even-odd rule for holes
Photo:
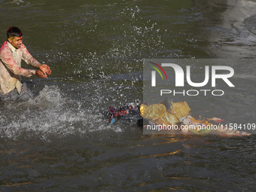
[[[20,75],[24,77],[38,75],[40,78],[47,78],[47,75],[51,73],[50,67],[41,64],[31,56],[22,43],[23,33],[19,28],[15,26],[9,28],[7,38],[8,41],[5,41],[0,48],[0,99],[26,100],[32,98],[31,90],[26,87],[25,83],[21,83]],[[22,59],[38,70],[21,68]]]

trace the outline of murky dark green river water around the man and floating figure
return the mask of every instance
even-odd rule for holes
[[[0,190],[253,191],[254,135],[146,136],[136,122],[109,125],[105,112],[143,99],[144,58],[254,59],[255,8],[247,0],[0,1],[1,42],[18,26],[52,69],[47,79],[23,78],[35,99],[0,103]],[[251,72],[242,93],[224,105],[186,98],[194,114],[256,123],[254,66],[235,67]],[[230,111],[233,103],[242,112]]]

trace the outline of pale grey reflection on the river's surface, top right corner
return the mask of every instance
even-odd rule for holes
[[[228,0],[226,3],[214,1],[209,4],[212,6],[203,11],[207,20],[206,23],[203,20],[202,25],[206,26],[210,53],[217,58],[254,58],[256,2]]]

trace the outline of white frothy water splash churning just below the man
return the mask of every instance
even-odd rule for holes
[[[118,126],[109,126],[105,115],[90,106],[89,102],[84,105],[70,99],[57,86],[45,86],[34,99],[3,105],[0,134],[3,139],[47,140],[51,136],[62,138],[102,130],[121,131]]]

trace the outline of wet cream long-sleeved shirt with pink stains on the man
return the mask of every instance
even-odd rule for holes
[[[32,57],[24,44],[19,49],[16,49],[8,41],[5,41],[0,48],[0,93],[9,93],[15,87],[20,93],[22,85],[20,75],[24,77],[35,75],[35,70],[21,68],[22,59],[37,69],[41,65],[40,62]]]

